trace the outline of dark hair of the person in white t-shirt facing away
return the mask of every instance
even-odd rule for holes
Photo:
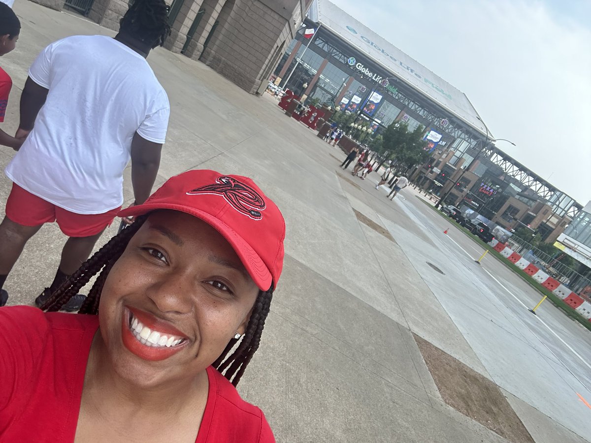
[[[119,32],[147,44],[162,46],[170,35],[168,6],[164,0],[134,0],[119,22]]]

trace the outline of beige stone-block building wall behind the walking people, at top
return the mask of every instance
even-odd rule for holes
[[[64,0],[35,1],[58,10],[64,4]],[[181,1],[183,4],[171,25],[171,35],[164,47],[176,53],[183,51],[184,47],[184,55],[203,61],[249,93],[264,92],[269,75],[296,35],[311,2]],[[128,7],[128,0],[95,0],[89,18],[117,31]],[[187,40],[200,10],[204,13],[200,15],[193,37]]]

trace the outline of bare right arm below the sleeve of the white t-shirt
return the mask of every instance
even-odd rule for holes
[[[142,204],[150,197],[152,186],[160,167],[162,144],[146,140],[137,132],[131,142],[131,182],[135,204]]]

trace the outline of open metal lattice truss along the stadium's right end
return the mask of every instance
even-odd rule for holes
[[[553,213],[557,216],[564,217],[566,215],[574,218],[583,209],[583,206],[577,203],[574,198],[567,196],[496,146],[487,146],[482,150],[481,155],[493,165],[501,168],[509,177],[534,191],[540,200],[545,201],[552,208]]]

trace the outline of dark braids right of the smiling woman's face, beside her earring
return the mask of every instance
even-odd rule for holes
[[[271,286],[272,288],[272,286]],[[246,366],[250,363],[252,356],[259,347],[261,342],[262,330],[265,327],[265,320],[269,314],[271,307],[271,299],[273,297],[273,290],[263,292],[260,291],[254,307],[252,308],[251,318],[246,325],[246,332],[240,341],[240,344],[235,351],[232,348],[236,345],[235,338],[230,340],[228,346],[223,351],[217,360],[213,363],[220,373],[226,377],[232,385],[238,385]]]

